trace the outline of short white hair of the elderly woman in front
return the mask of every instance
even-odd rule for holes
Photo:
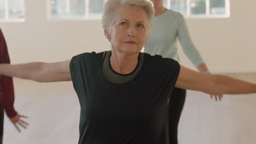
[[[101,20],[104,30],[106,30],[108,33],[111,32],[111,27],[115,18],[115,10],[122,5],[141,7],[147,14],[147,29],[150,33],[153,25],[155,10],[153,8],[153,4],[147,0],[108,0],[104,4]]]

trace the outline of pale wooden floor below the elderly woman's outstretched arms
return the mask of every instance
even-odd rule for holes
[[[256,74],[229,74],[256,83]],[[4,120],[4,144],[78,143],[78,98],[71,82],[37,83],[15,79],[15,108],[30,126],[18,133]],[[256,94],[210,95],[188,91],[179,124],[179,144],[255,144]],[[142,143],[143,144],[143,143]]]

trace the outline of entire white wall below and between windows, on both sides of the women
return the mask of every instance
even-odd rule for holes
[[[213,73],[256,72],[256,1],[231,1],[230,19],[188,19],[194,43]],[[62,61],[109,50],[100,20],[49,21],[46,1],[26,0],[26,22],[0,23],[13,63]],[[193,65],[181,52],[182,64]]]

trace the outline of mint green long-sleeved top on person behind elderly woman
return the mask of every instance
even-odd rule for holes
[[[190,38],[187,24],[182,14],[167,9],[163,14],[155,16],[152,33],[144,45],[144,52],[150,55],[161,55],[179,62],[178,45],[181,43],[185,55],[198,67],[203,59]]]

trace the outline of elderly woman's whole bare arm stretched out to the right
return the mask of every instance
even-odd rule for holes
[[[202,74],[181,65],[176,87],[209,94],[255,93],[256,85],[223,75]]]

